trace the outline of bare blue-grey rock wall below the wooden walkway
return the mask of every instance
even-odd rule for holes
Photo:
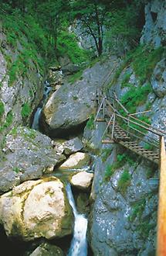
[[[100,163],[100,166],[96,165],[93,183],[97,183],[97,178],[98,181],[102,181],[102,172],[107,163],[113,163],[113,156],[108,157],[103,163],[99,157],[97,163]],[[126,193],[121,195],[117,190],[117,182],[124,169],[129,170],[131,181]],[[147,251],[155,250],[157,218],[153,213],[156,213],[158,196],[151,194],[151,185],[147,179],[148,169],[151,169],[151,164],[145,164],[144,161],[131,167],[125,164],[123,168],[115,171],[110,181],[101,182],[98,188],[93,184],[96,196],[91,212],[89,232],[90,244],[95,255],[109,255],[110,251],[113,251],[113,255],[128,256],[138,254],[138,252],[139,255],[141,253],[145,255]],[[154,170],[154,173],[156,172],[158,170]],[[144,207],[139,206],[139,203],[144,203]],[[138,208],[135,212],[136,216],[133,217],[136,205]],[[143,207],[141,213],[139,213],[139,207]],[[130,217],[133,218],[132,221]],[[142,237],[143,231],[140,230],[140,224],[143,223],[142,229],[144,230],[144,225],[147,226],[146,220],[149,220],[151,230],[148,231],[147,237]]]

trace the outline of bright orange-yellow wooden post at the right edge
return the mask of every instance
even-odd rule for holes
[[[161,137],[160,185],[158,196],[157,256],[166,255],[166,154],[164,137]]]

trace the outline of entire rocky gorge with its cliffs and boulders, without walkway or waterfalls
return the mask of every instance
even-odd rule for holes
[[[76,79],[76,65],[70,63],[65,74],[61,60],[62,67],[50,65],[43,73],[30,60],[27,75],[18,74],[11,85],[6,55],[16,60],[23,47],[18,42],[14,51],[1,32],[0,236],[4,256],[11,255],[11,249],[17,256],[68,254],[76,216],[67,183],[78,215],[88,220],[86,254],[155,254],[158,164],[119,144],[102,144],[106,124],[94,122],[96,92],[105,88],[110,99],[116,92],[130,112],[151,109],[144,119],[166,130],[166,6],[153,0],[144,10],[141,43],[129,60],[108,54],[84,67]],[[151,49],[143,47],[149,44]],[[49,81],[52,90],[42,102],[44,81]],[[32,129],[41,102],[39,129]],[[29,114],[23,114],[27,108]],[[3,127],[11,113],[12,120]],[[153,179],[155,184],[151,184]]]

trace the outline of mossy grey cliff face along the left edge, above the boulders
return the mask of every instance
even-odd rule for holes
[[[0,27],[0,122],[1,137],[13,126],[29,123],[33,109],[42,96],[43,70],[34,61],[32,45],[22,33],[10,42],[5,21]],[[30,50],[29,50],[30,49]],[[36,58],[38,58],[36,56]],[[39,57],[40,58],[40,57]]]

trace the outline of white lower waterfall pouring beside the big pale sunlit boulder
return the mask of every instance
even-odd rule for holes
[[[73,214],[75,218],[73,240],[71,242],[69,253],[67,254],[67,256],[86,256],[87,255],[87,241],[86,241],[87,219],[83,214],[77,213],[70,184],[66,185],[66,193],[69,199],[69,204],[73,209]]]

